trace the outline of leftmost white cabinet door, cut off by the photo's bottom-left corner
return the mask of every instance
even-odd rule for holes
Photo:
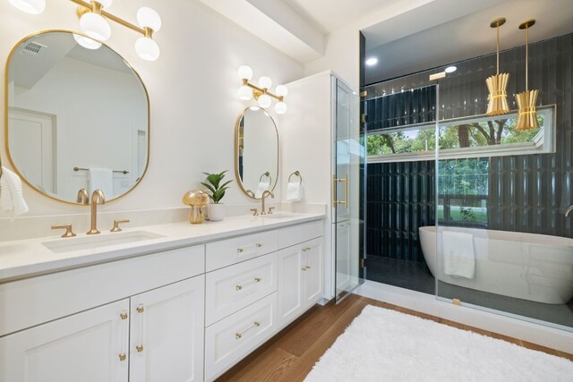
[[[128,312],[124,299],[0,338],[0,380],[127,381]]]

